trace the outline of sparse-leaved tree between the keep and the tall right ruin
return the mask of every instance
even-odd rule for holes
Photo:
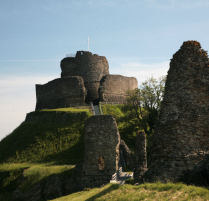
[[[138,89],[127,92],[124,110],[137,118],[147,135],[153,133],[164,95],[166,76],[148,78]]]

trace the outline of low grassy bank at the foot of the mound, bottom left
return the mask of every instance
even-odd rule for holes
[[[69,178],[74,166],[53,165],[53,163],[15,163],[0,165],[0,200],[9,201],[11,193],[19,187],[24,194],[38,183],[52,175]]]

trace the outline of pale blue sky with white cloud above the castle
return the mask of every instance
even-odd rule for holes
[[[139,84],[166,75],[184,41],[209,50],[208,0],[0,0],[0,139],[35,109],[35,84],[60,77],[66,54],[106,56]]]

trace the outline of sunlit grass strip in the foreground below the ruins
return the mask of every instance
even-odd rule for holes
[[[146,183],[139,186],[108,184],[102,188],[86,189],[86,191],[54,199],[53,201],[126,201],[126,200],[209,200],[209,190],[186,186],[181,183]]]

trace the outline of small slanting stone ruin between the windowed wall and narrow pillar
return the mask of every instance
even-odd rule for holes
[[[128,148],[124,140],[120,141],[120,151],[122,151],[126,166],[130,169],[134,169],[134,164],[135,164],[135,157],[131,153],[131,150]]]

